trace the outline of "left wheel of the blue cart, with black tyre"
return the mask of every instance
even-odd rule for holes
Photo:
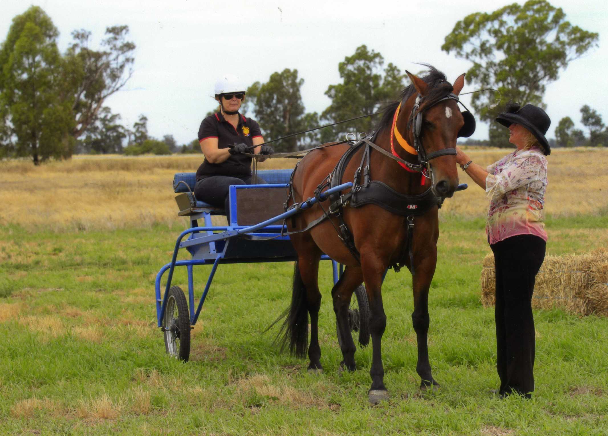
[[[184,291],[179,286],[169,289],[162,327],[167,353],[187,362],[190,357],[190,314]]]

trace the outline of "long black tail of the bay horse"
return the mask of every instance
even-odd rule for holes
[[[283,318],[285,321],[275,337],[274,343],[280,346],[281,351],[289,347],[289,353],[305,357],[306,351],[308,351],[308,303],[306,302],[306,287],[302,281],[297,261],[294,267],[291,304],[269,328]]]

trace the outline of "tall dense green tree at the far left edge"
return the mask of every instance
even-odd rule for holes
[[[38,6],[13,18],[0,47],[0,116],[12,152],[38,165],[51,156],[69,156],[74,125],[66,98],[59,32]],[[14,141],[12,140],[14,138]]]

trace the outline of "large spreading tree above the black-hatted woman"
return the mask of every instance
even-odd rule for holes
[[[471,99],[478,118],[491,121],[509,100],[544,106],[547,84],[597,43],[598,33],[566,21],[561,8],[546,0],[529,0],[467,15],[455,24],[441,49],[472,62],[468,80],[499,91],[475,93]],[[497,97],[500,104],[492,107]],[[489,135],[493,144],[510,146],[508,132],[496,123],[490,123]]]

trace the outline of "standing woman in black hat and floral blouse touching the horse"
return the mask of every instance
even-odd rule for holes
[[[490,198],[486,234],[496,266],[499,395],[530,398],[535,348],[531,301],[547,242],[542,209],[547,189],[545,156],[551,153],[545,133],[551,120],[531,104],[522,108],[508,104],[496,121],[509,128],[509,142],[516,150],[484,168],[456,147],[456,161]]]

